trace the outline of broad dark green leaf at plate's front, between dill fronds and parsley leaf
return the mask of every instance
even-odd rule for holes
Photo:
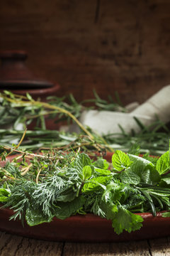
[[[70,201],[68,203],[57,203],[57,206],[55,208],[55,216],[60,220],[68,218],[69,216],[77,213],[77,211],[83,207],[84,201],[84,196],[79,196],[78,198],[74,198],[73,201]]]

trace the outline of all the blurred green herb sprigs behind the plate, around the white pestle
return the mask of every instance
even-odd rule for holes
[[[23,131],[18,131],[18,124],[23,124],[23,129],[28,127],[28,124],[36,119],[37,125],[35,129],[28,130],[22,146],[31,151],[44,148],[58,148],[75,144],[84,146],[84,149],[91,150],[91,144],[101,144],[110,151],[113,149],[121,149],[128,152],[129,149],[136,148],[140,144],[140,153],[161,155],[167,149],[167,141],[170,137],[169,128],[159,121],[159,119],[151,125],[145,127],[139,120],[136,119],[137,124],[141,128],[141,132],[131,134],[125,133],[123,127],[122,133],[107,134],[103,137],[91,131],[89,128],[83,127],[77,119],[83,110],[93,108],[84,107],[86,102],[93,102],[98,110],[111,110],[125,112],[120,100],[114,102],[111,97],[109,101],[102,100],[96,92],[94,92],[95,99],[86,100],[80,104],[74,99],[73,95],[69,95],[69,103],[66,97],[50,97],[48,102],[39,102],[33,100],[30,95],[26,97],[21,95],[13,95],[13,93],[4,91],[0,94],[0,142],[1,144],[18,143]],[[117,97],[118,98],[118,97]],[[65,101],[66,100],[66,101]],[[72,119],[81,128],[81,133],[59,132],[57,130],[46,129],[48,115],[50,119],[55,119],[54,122],[62,122],[67,119],[67,122]],[[6,126],[7,125],[7,126]],[[154,128],[153,128],[154,127]],[[86,137],[86,141],[82,137]],[[88,137],[88,139],[87,139]],[[88,143],[88,142],[89,143]],[[94,147],[95,148],[95,147]]]

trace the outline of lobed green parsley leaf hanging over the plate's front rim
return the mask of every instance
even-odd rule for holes
[[[118,207],[118,213],[115,213],[112,219],[112,226],[115,233],[118,235],[123,232],[123,230],[131,231],[139,230],[142,227],[143,218],[140,215],[130,213],[122,206]]]

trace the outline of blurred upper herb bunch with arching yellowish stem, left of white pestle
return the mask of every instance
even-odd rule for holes
[[[94,99],[77,102],[72,94],[67,97],[47,97],[47,104],[33,98],[27,94],[26,96],[15,95],[10,91],[0,93],[0,126],[4,124],[12,125],[16,129],[19,123],[27,126],[36,119],[36,127],[45,129],[45,116],[54,119],[54,122],[70,122],[74,116],[76,119],[80,117],[83,110],[97,108],[98,110],[111,110],[126,112],[122,107],[120,100],[118,103],[109,96],[108,101],[102,100],[94,90]],[[91,106],[86,106],[86,102],[91,102]],[[76,121],[76,120],[74,120]]]

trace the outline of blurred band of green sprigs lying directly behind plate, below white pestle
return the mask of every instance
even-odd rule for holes
[[[96,150],[94,145],[100,144],[101,148],[106,148],[108,151],[119,149],[125,152],[135,152],[138,150],[139,154],[149,153],[159,156],[164,154],[168,147],[170,132],[167,127],[164,129],[165,124],[161,124],[159,121],[156,127],[158,129],[142,129],[138,134],[134,132],[126,134],[124,132],[120,134],[107,134],[103,137],[89,130],[93,135],[93,139],[84,132],[78,134],[48,129],[27,130],[22,148],[24,150],[38,151],[42,149],[51,150],[53,148],[67,150],[70,146],[76,149],[81,146],[84,151],[89,151]],[[164,130],[160,131],[160,128]],[[13,143],[17,144],[22,134],[23,130],[0,129],[0,142],[8,146],[11,146]]]

